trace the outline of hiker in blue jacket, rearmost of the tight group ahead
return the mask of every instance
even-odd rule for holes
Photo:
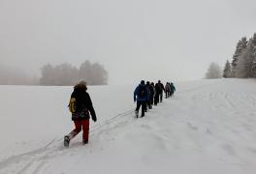
[[[144,80],[141,81],[141,84],[139,84],[135,91],[134,91],[134,102],[137,101],[137,107],[135,109],[136,117],[139,116],[139,110],[142,105],[142,117],[144,117],[144,111],[146,107],[146,102],[149,100],[149,94],[146,89],[146,86],[144,84]]]

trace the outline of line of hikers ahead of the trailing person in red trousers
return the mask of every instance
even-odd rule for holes
[[[166,99],[174,95],[176,87],[172,82],[166,82],[164,86],[161,80],[157,83],[146,81],[141,81],[141,83],[136,87],[134,91],[134,102],[137,102],[135,109],[136,117],[139,117],[139,110],[142,106],[142,116],[144,117],[144,112],[147,109],[151,109],[152,105],[157,105],[159,102],[163,102],[163,93],[165,93]]]

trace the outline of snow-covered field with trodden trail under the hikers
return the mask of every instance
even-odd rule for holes
[[[89,144],[79,134],[64,148],[72,87],[0,86],[0,173],[256,173],[256,80],[176,82],[175,97],[142,119],[135,87],[89,87]]]

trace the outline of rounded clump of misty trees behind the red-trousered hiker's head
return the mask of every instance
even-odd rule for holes
[[[41,85],[66,86],[74,85],[80,79],[85,80],[89,85],[106,85],[108,84],[108,72],[99,63],[90,63],[85,61],[80,68],[63,63],[57,66],[50,64],[43,66],[41,69]]]

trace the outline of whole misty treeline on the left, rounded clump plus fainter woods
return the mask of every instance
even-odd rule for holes
[[[89,85],[108,84],[108,72],[99,63],[85,61],[80,67],[63,63],[52,66],[45,65],[41,69],[41,77],[32,76],[21,70],[0,65],[0,85],[75,85],[80,79]]]

